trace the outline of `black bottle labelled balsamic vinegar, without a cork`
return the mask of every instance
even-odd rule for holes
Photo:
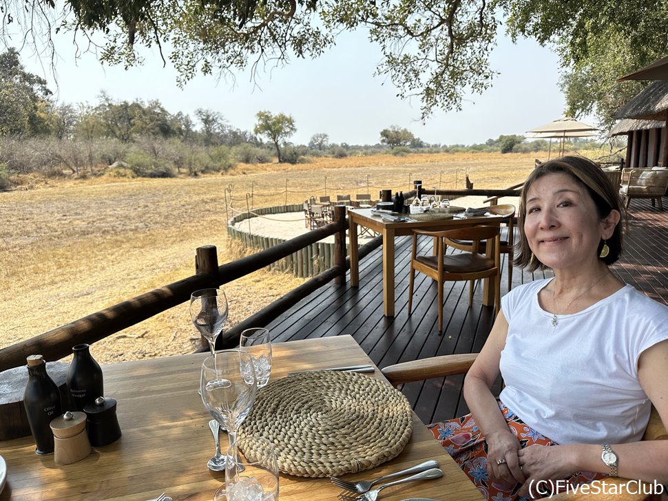
[[[74,358],[67,371],[67,390],[70,392],[72,410],[83,411],[83,407],[104,395],[102,369],[91,356],[89,345],[76,345],[72,352]]]

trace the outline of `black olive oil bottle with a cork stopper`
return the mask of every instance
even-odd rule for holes
[[[46,373],[46,363],[41,355],[28,356],[28,384],[23,392],[23,405],[37,446],[35,452],[52,453],[54,441],[49,425],[63,414],[63,407],[58,386]]]

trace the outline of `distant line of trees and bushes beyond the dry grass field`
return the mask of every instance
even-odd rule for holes
[[[313,134],[308,145],[293,145],[297,130],[286,114],[260,111],[253,131],[229,125],[211,109],[194,118],[171,114],[158,100],[114,100],[102,92],[98,103],[56,103],[43,78],[25,72],[16,50],[0,53],[0,189],[16,173],[118,177],[171,177],[227,171],[238,162],[304,162],[309,157],[372,155],[411,151],[541,151],[547,141],[499,136],[483,145],[428,145],[408,129],[392,125],[376,145],[330,142]],[[266,140],[266,142],[264,141]]]

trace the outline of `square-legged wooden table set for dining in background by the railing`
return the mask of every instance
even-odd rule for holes
[[[406,214],[410,217],[410,214]],[[383,312],[386,317],[395,316],[395,237],[411,235],[413,230],[452,230],[479,224],[500,224],[503,215],[481,215],[459,219],[432,221],[388,221],[372,209],[348,209],[348,238],[350,239],[351,286],[359,286],[359,253],[357,247],[357,226],[364,226],[383,236]],[[484,280],[483,304],[494,303],[494,288]]]

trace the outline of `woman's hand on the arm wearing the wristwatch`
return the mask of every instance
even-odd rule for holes
[[[536,495],[530,489],[538,480],[561,480],[574,473],[568,447],[565,445],[530,445],[517,453],[526,477],[519,495]]]

